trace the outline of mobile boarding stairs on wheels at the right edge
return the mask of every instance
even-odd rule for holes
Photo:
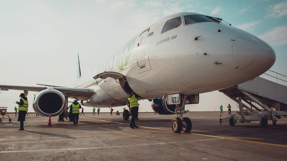
[[[239,112],[222,118],[222,122],[229,121],[229,124],[234,126],[235,123],[259,121],[259,124],[266,128],[268,120],[272,120],[273,126],[276,126],[277,119],[281,116],[287,117],[287,81],[277,78],[278,74],[276,73],[276,77],[272,76],[276,78],[276,82],[256,77],[245,83],[219,90],[238,103],[239,108]],[[278,83],[278,79],[282,84]],[[247,111],[243,111],[243,108]]]

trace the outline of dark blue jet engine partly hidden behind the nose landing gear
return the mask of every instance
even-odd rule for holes
[[[152,100],[152,109],[154,112],[160,115],[172,115],[175,114],[176,105],[168,105],[166,98],[153,99]]]

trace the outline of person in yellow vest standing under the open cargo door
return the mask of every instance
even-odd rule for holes
[[[131,114],[131,122],[129,123],[129,127],[131,127],[132,129],[138,128],[138,126],[135,125],[135,118],[137,118],[139,111],[139,103],[137,102],[137,98],[139,98],[139,95],[135,94],[135,92],[131,92],[131,95],[129,96],[127,101]]]

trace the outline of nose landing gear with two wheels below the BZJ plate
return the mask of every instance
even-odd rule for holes
[[[177,114],[177,117],[173,118],[171,121],[171,128],[175,133],[181,133],[181,131],[190,132],[192,128],[190,119],[188,117],[183,117],[184,113],[189,112],[184,109],[186,97],[186,95],[181,95],[181,103],[177,104],[175,108],[175,114]]]

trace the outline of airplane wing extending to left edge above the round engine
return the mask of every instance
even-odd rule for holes
[[[96,93],[96,89],[93,88],[70,88],[70,87],[32,87],[32,86],[14,86],[14,85],[0,85],[1,91],[8,91],[9,89],[12,90],[23,90],[23,91],[34,91],[40,92],[45,89],[55,89],[60,91],[66,97],[73,97],[79,100],[81,99],[88,99],[92,95]]]

